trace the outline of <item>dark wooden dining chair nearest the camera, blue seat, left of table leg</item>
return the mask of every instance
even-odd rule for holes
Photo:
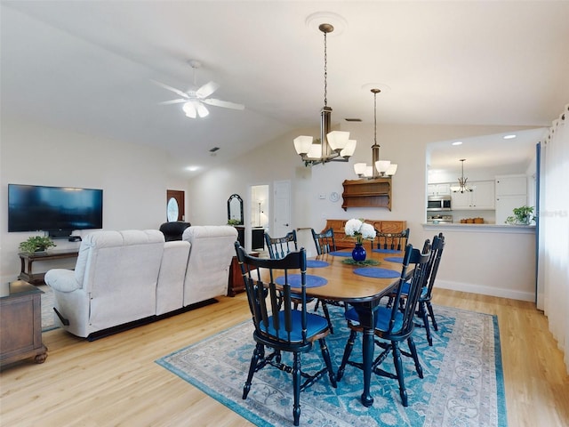
[[[325,341],[326,335],[330,334],[328,321],[306,309],[306,251],[301,248],[282,259],[268,259],[246,254],[239,242],[236,242],[235,247],[255,328],[252,336],[256,342],[249,374],[244,383],[243,399],[247,399],[251,390],[253,375],[263,367],[272,366],[292,373],[293,422],[294,425],[299,425],[301,391],[326,373],[336,388],[332,360]],[[261,277],[261,270],[266,276]],[[294,293],[300,295],[302,302],[298,310],[292,297],[293,282]],[[309,374],[301,369],[301,354],[312,350],[316,341],[320,344],[325,367]],[[271,349],[269,354],[266,348]],[[293,353],[292,367],[285,365],[281,359],[283,351]],[[276,384],[276,387],[280,388],[281,384]]]

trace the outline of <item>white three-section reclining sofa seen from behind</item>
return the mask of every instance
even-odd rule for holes
[[[184,240],[172,242],[164,242],[159,230],[87,235],[75,270],[53,269],[45,274],[60,313],[56,324],[71,334],[90,337],[227,294],[235,228],[189,229]]]

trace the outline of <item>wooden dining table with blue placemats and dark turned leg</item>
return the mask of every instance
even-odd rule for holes
[[[380,304],[381,298],[397,286],[401,276],[403,256],[403,252],[395,250],[367,250],[366,260],[373,260],[379,264],[357,265],[346,261],[351,260],[351,251],[343,250],[317,255],[307,260],[307,297],[347,302],[357,310],[363,328],[364,390],[361,400],[365,407],[373,405],[370,383],[374,350],[374,311]],[[407,270],[407,274],[409,273]]]

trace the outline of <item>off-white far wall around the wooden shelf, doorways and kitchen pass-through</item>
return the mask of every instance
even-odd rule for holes
[[[357,179],[353,172],[354,163],[363,161],[371,164],[373,126],[349,124],[342,130],[350,131],[350,138],[357,140],[357,151],[349,163],[329,163],[305,168],[293,149],[293,138],[301,134],[294,132],[282,135],[266,146],[234,159],[222,168],[213,169],[189,182],[188,194],[203,203],[195,205],[192,214],[198,221],[213,218],[225,221],[224,213],[216,215],[216,206],[225,202],[236,192],[244,197],[245,213],[248,188],[252,184],[291,180],[293,188],[293,222],[291,228],[314,228],[322,230],[326,218],[371,218],[405,220],[411,229],[411,243],[422,246],[425,238],[432,238],[435,230],[423,227],[425,222],[426,197],[426,148],[429,142],[446,141],[453,138],[493,134],[511,131],[502,126],[422,126],[381,125],[378,127],[380,157],[397,163],[397,174],[393,178],[392,210],[385,208],[350,208],[345,212],[339,202],[331,202],[329,195],[342,193],[342,181]],[[312,133],[317,134],[313,129]],[[206,195],[214,197],[206,197]],[[325,199],[319,195],[325,194]],[[218,200],[219,199],[219,200]],[[248,223],[245,214],[245,223]],[[247,231],[248,232],[248,231]],[[439,280],[446,286],[533,301],[534,263],[533,234],[451,232],[448,234],[448,251],[442,262]],[[250,236],[248,232],[247,236]],[[299,232],[300,246],[309,254],[315,254],[314,243],[309,232]],[[492,251],[485,250],[491,245]],[[507,263],[523,265],[524,268],[506,267]],[[474,266],[473,266],[474,264]],[[508,274],[505,274],[507,271]],[[476,273],[476,274],[475,274]]]

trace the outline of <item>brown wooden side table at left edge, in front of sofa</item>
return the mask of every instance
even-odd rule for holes
[[[22,280],[1,287],[0,365],[28,358],[44,363],[47,358],[47,347],[42,342],[44,291]]]

